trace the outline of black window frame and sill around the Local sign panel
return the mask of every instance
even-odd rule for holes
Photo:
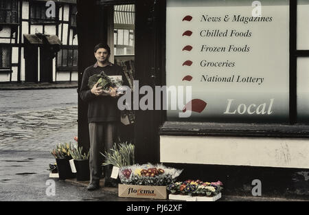
[[[289,1],[289,124],[172,122],[167,120],[167,111],[163,111],[164,120],[159,128],[159,135],[308,139],[309,122],[297,122],[297,58],[309,57],[309,50],[297,49],[297,3],[294,0]],[[166,6],[160,19],[163,19],[161,24],[166,27]],[[163,58],[165,55],[166,53]]]

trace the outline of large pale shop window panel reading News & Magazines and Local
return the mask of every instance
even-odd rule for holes
[[[190,100],[168,100],[168,120],[288,124],[289,4],[262,1],[253,17],[249,0],[168,0],[166,83],[192,87]]]

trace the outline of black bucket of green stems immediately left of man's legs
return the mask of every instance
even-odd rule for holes
[[[76,179],[78,181],[89,181],[89,152],[82,153],[82,147],[71,150],[71,156],[74,159],[74,165],[76,168]]]

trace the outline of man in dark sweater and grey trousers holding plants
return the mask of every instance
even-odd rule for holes
[[[97,87],[98,83],[92,89],[89,89],[89,77],[104,71],[107,76],[122,76],[122,80],[126,84],[126,77],[122,72],[122,68],[109,62],[111,49],[108,45],[102,43],[96,45],[94,55],[97,62],[84,70],[80,87],[80,97],[84,102],[88,103],[90,140],[90,183],[88,190],[100,188],[103,163],[103,156],[100,155],[100,152],[113,148],[117,137],[117,124],[120,121],[120,111],[117,107],[117,97],[119,95],[116,89],[104,91],[102,87]],[[111,179],[111,166],[106,166],[104,175],[104,186],[117,186],[115,179]]]

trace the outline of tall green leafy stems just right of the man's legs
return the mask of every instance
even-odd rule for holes
[[[114,144],[113,148],[105,151],[104,154],[102,152],[100,153],[105,158],[103,166],[111,164],[121,168],[122,166],[130,166],[135,164],[134,145],[128,144],[127,142],[121,143],[119,146]]]

